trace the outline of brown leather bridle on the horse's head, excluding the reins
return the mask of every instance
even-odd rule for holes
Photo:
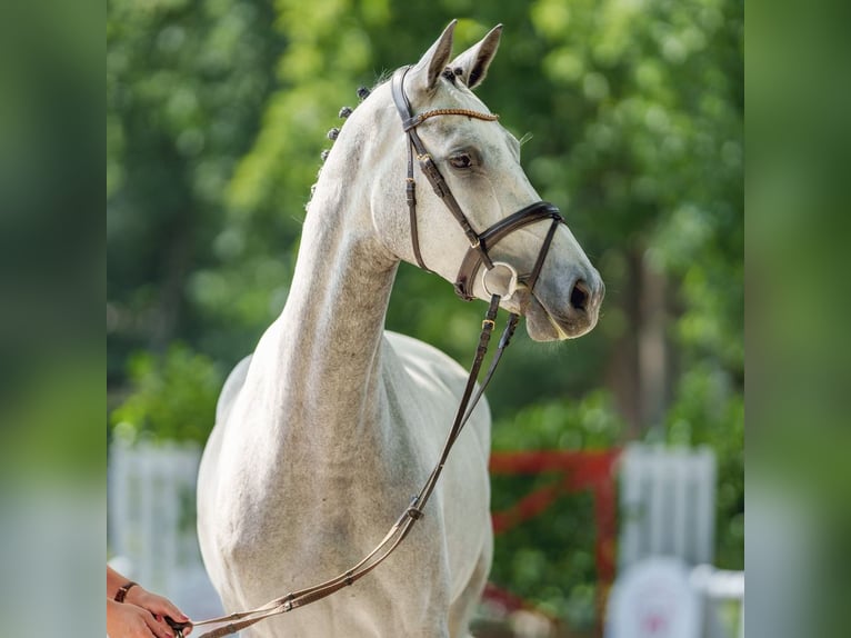
[[[464,116],[468,118],[475,118],[484,121],[495,121],[499,116],[492,113],[481,113],[479,111],[472,111],[469,109],[434,109],[414,116],[411,108],[411,102],[408,100],[408,96],[404,92],[404,77],[410,69],[411,67],[402,67],[401,69],[397,70],[396,73],[393,73],[393,78],[391,80],[391,89],[393,93],[393,101],[396,102],[396,108],[402,119],[402,130],[404,130],[404,132],[408,134],[409,140],[406,199],[408,201],[408,211],[410,216],[411,243],[413,245],[413,256],[417,259],[417,263],[423,270],[431,272],[431,270],[426,266],[426,262],[422,259],[422,252],[420,251],[420,240],[417,223],[417,186],[413,177],[414,151],[417,154],[417,161],[420,165],[420,170],[431,183],[431,188],[434,190],[434,193],[443,201],[445,207],[449,209],[449,212],[452,213],[452,217],[454,217],[455,221],[458,221],[458,223],[461,226],[461,229],[470,242],[470,248],[467,250],[467,253],[461,260],[461,267],[458,270],[458,276],[455,277],[455,293],[464,301],[470,301],[475,298],[473,295],[473,287],[475,282],[475,276],[482,265],[484,265],[487,270],[493,269],[494,266],[508,267],[512,273],[512,279],[515,279],[515,281],[512,280],[510,282],[509,289],[513,291],[513,288],[517,287],[518,283],[523,283],[531,293],[538,280],[538,276],[541,272],[541,268],[543,267],[543,261],[547,258],[547,253],[550,250],[550,243],[552,243],[552,239],[555,236],[555,229],[558,228],[559,223],[564,222],[561,213],[559,212],[559,209],[549,202],[538,201],[518,210],[504,219],[499,220],[487,230],[477,232],[470,223],[470,220],[467,219],[463,210],[461,210],[458,200],[452,195],[447,180],[443,179],[443,176],[440,173],[440,170],[434,163],[431,154],[429,154],[429,152],[426,150],[426,146],[422,143],[422,139],[420,139],[420,136],[417,132],[417,127],[419,127],[429,118],[438,116]],[[547,237],[544,238],[543,245],[541,246],[541,250],[538,253],[538,259],[535,260],[534,267],[530,272],[518,276],[517,271],[511,266],[494,262],[491,259],[489,251],[500,240],[504,239],[515,230],[523,228],[524,226],[529,226],[530,223],[542,221],[544,219],[550,219],[552,221],[550,229],[547,232]],[[488,290],[487,282],[484,288]],[[490,290],[488,291],[490,292]]]

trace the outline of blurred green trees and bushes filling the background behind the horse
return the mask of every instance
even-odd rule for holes
[[[532,185],[607,285],[593,332],[542,346],[521,329],[491,385],[497,453],[580,459],[494,470],[494,511],[555,496],[500,534],[491,580],[522,601],[504,605],[549,624],[525,635],[599,635],[612,585],[601,565],[618,547],[599,545],[600,492],[553,487],[581,459],[611,453],[604,480],[622,492],[617,459],[632,443],[709,452],[709,561],[743,569],[741,1],[108,2],[108,441],[203,445],[226,375],[287,299],[338,111],[417,61],[453,18],[458,52],[504,24],[478,93],[515,137],[531,136]],[[482,312],[403,265],[388,328],[467,365]],[[622,535],[631,515],[618,502]]]

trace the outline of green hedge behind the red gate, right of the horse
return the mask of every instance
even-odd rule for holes
[[[539,402],[494,425],[497,450],[602,450],[619,445],[627,425],[609,392]],[[492,509],[502,511],[562,478],[492,476]],[[497,538],[491,579],[574,630],[593,629],[599,600],[597,522],[590,492],[561,492],[545,514]]]

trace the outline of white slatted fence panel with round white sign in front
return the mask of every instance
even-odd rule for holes
[[[624,450],[607,638],[743,638],[744,574],[711,566],[715,473],[708,448]]]

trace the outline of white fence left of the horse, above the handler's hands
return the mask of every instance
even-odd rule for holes
[[[108,541],[114,567],[171,598],[190,617],[221,604],[203,568],[196,532],[194,445],[120,442],[110,448]]]

